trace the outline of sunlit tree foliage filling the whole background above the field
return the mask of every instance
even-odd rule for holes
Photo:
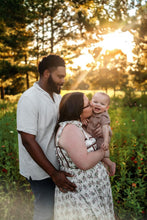
[[[131,10],[135,11],[134,16],[130,15]],[[79,77],[75,74],[73,79],[68,77],[70,83],[65,84],[68,88],[72,83],[75,88],[95,88],[96,82],[99,82],[102,88],[111,87],[115,91],[127,86],[129,79],[136,88],[145,89],[146,24],[146,5],[141,0],[1,0],[1,87],[9,84],[14,88],[17,83],[16,92],[28,88],[30,78],[38,80],[40,58],[57,53],[65,58],[67,64],[71,64],[74,74],[79,74]],[[109,55],[107,52],[102,59],[102,48],[91,49],[104,34],[118,28],[129,30],[134,35],[136,60],[131,65],[120,51],[112,51]],[[73,58],[78,57],[83,48],[89,48],[95,61],[84,73],[72,67]],[[100,61],[103,66],[101,64],[98,68]],[[131,77],[128,78],[129,73]],[[21,82],[20,86],[18,82]],[[26,86],[22,86],[22,82]],[[140,84],[142,87],[139,87]]]

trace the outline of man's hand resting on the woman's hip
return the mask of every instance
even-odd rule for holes
[[[70,173],[66,173],[64,171],[55,171],[51,178],[53,182],[59,187],[60,191],[67,192],[67,191],[76,191],[76,185],[70,182],[66,177],[72,177]]]

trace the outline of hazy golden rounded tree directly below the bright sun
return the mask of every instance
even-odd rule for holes
[[[121,50],[107,50],[96,56],[95,62],[99,62],[99,66],[88,73],[86,80],[90,88],[105,89],[106,93],[112,88],[115,96],[116,89],[124,89],[128,84],[127,57]]]

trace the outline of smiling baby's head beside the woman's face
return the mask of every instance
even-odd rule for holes
[[[91,105],[94,113],[102,113],[108,110],[110,97],[104,92],[97,92],[91,100]]]

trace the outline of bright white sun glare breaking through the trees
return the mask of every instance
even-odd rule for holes
[[[84,48],[81,51],[81,54],[78,58],[73,59],[73,68],[80,67],[81,70],[87,70],[89,69],[88,64],[91,64],[94,62],[94,58],[91,53],[89,53],[89,50],[94,50],[95,48],[101,47],[102,51],[100,55],[105,54],[106,50],[114,50],[114,49],[120,49],[124,54],[127,56],[128,62],[133,62],[133,48],[135,46],[133,35],[129,32],[122,32],[121,30],[116,30],[115,32],[103,35],[103,40],[94,43],[89,48]],[[97,67],[100,65],[100,63],[97,63]]]

